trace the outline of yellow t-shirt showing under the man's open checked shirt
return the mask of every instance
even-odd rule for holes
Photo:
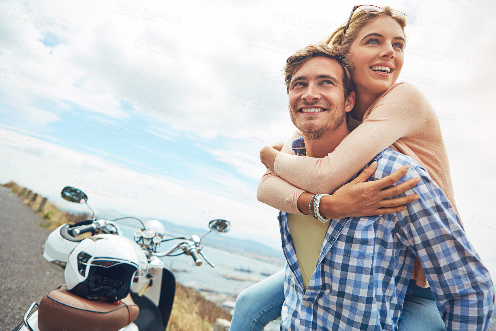
[[[302,273],[303,287],[306,291],[315,271],[329,222],[322,223],[311,215],[291,213],[287,215],[289,233],[293,240],[296,259]]]

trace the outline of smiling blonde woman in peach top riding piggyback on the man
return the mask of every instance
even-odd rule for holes
[[[348,127],[356,129],[324,158],[291,155],[294,153],[288,144],[283,152],[279,151],[281,146],[264,147],[261,160],[274,171],[268,171],[259,183],[260,201],[301,215],[309,214],[313,194],[327,193],[332,196],[322,198],[319,208],[324,217],[382,214],[378,210],[374,213],[370,207],[379,198],[357,197],[350,192],[350,185],[359,185],[367,192],[373,182],[343,184],[377,153],[392,145],[422,164],[455,206],[448,158],[432,106],[418,88],[395,84],[404,61],[406,16],[389,7],[378,9],[355,6],[348,23],[327,40],[329,46],[338,47],[355,65],[352,78],[356,102]],[[300,132],[293,138],[298,136]],[[236,303],[231,330],[263,330],[264,325],[280,316],[283,279],[284,272],[279,271],[243,291]],[[400,331],[445,329],[418,260],[407,293]]]

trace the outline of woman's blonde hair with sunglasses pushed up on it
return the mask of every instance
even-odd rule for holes
[[[406,17],[393,13],[391,7],[385,6],[379,11],[373,12],[356,9],[351,17],[350,25],[348,26],[348,29],[346,29],[344,38],[343,32],[346,27],[346,22],[337,28],[329,37],[325,38],[323,44],[329,45],[329,47],[335,47],[340,53],[348,55],[350,54],[351,44],[355,41],[363,27],[380,16],[389,16],[394,19],[401,26],[403,34],[405,34]]]

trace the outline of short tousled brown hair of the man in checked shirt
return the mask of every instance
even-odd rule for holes
[[[322,43],[310,44],[304,47],[295,54],[290,56],[286,60],[286,66],[284,66],[284,74],[286,81],[286,88],[289,94],[289,88],[291,83],[291,78],[293,74],[298,71],[307,61],[311,58],[321,56],[325,58],[332,59],[339,63],[341,68],[343,68],[343,92],[344,96],[347,97],[351,92],[355,90],[355,85],[351,80],[351,75],[353,74],[354,66],[353,63],[346,58],[343,54],[339,53],[336,49],[330,48]]]

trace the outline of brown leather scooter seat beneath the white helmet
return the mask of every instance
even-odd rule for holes
[[[139,307],[128,294],[121,303],[107,298],[87,300],[67,290],[64,284],[49,291],[38,308],[40,331],[118,331],[133,322]]]

